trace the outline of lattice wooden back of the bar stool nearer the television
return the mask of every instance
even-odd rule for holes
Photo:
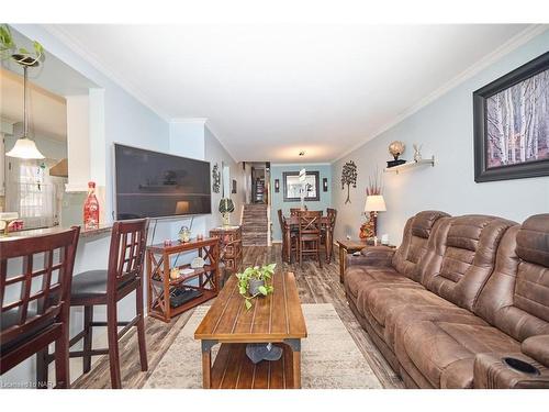
[[[108,296],[115,297],[122,286],[127,287],[125,288],[127,290],[133,290],[141,281],[147,247],[147,219],[114,222],[109,253]]]

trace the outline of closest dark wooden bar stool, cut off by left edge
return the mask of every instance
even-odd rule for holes
[[[56,388],[70,388],[69,301],[79,234],[72,227],[0,241],[0,375],[55,343]],[[21,271],[9,269],[19,264]],[[37,382],[47,387],[47,379]]]

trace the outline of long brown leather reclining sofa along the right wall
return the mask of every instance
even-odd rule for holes
[[[549,388],[549,214],[425,211],[396,252],[347,263],[349,305],[406,387]]]

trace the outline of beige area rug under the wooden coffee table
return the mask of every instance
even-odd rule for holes
[[[381,383],[330,303],[303,304],[309,337],[302,341],[303,389],[369,389]],[[200,342],[193,335],[210,308],[199,307],[144,388],[202,388]],[[216,347],[212,356],[216,354]]]

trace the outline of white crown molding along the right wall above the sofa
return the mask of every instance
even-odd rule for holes
[[[514,49],[518,48],[523,44],[527,43],[531,38],[540,35],[545,31],[549,30],[549,25],[547,24],[531,24],[527,29],[523,30],[520,33],[514,35],[511,37],[507,42],[503,43],[500,47],[494,49],[493,52],[489,53],[484,57],[482,57],[480,60],[474,63],[473,65],[469,66],[467,69],[461,71],[458,76],[453,77],[446,83],[444,83],[441,87],[433,91],[432,93],[427,94],[425,98],[421,99],[413,105],[411,105],[408,109],[403,111],[401,114],[399,114],[396,118],[394,118],[392,121],[389,123],[385,123],[382,127],[378,129],[377,132],[372,133],[370,137],[363,140],[359,144],[354,145],[351,148],[346,151],[344,154],[339,155],[335,160],[332,162],[332,164],[339,162],[344,157],[348,156],[359,147],[363,146],[366,143],[369,141],[372,141],[373,138],[378,137],[380,134],[383,132],[386,132],[389,129],[395,126],[400,122],[402,122],[404,119],[411,116],[415,112],[419,111],[421,109],[425,108],[426,105],[430,104],[438,98],[442,97],[446,94],[448,91],[451,89],[456,88],[460,83],[464,82],[466,80],[470,79],[478,73],[482,71],[490,65],[494,64],[497,62],[500,58],[505,56],[506,54],[509,54]]]

